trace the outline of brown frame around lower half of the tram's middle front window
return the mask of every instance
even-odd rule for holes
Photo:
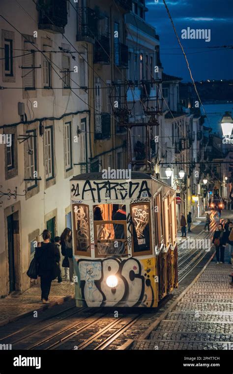
[[[127,221],[126,219],[122,220],[106,220],[106,221],[93,221],[94,223],[94,248],[95,248],[95,257],[101,258],[101,257],[113,257],[114,253],[106,253],[106,254],[99,254],[98,253],[98,243],[114,243],[114,242],[122,242],[125,245],[125,253],[118,255],[119,257],[125,257],[128,256],[128,242],[127,242]],[[100,224],[122,224],[124,226],[124,233],[126,239],[97,239],[97,226]]]

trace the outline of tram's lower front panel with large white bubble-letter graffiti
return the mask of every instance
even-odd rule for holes
[[[151,258],[107,258],[78,260],[82,300],[88,307],[152,307],[155,302],[155,267]],[[110,288],[106,279],[115,275],[116,288]]]

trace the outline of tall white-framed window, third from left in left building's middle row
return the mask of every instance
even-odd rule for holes
[[[54,177],[54,143],[53,127],[45,127],[44,133],[44,154],[45,154],[45,176],[46,181]]]

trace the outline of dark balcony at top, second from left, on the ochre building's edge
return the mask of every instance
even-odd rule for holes
[[[76,40],[94,43],[98,35],[99,16],[94,9],[84,6],[79,7],[77,13]]]

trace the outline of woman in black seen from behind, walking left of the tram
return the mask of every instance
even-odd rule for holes
[[[58,277],[58,252],[54,243],[51,243],[51,233],[44,230],[43,242],[38,243],[35,249],[35,259],[38,263],[38,276],[40,277],[41,301],[47,304],[52,280]]]

